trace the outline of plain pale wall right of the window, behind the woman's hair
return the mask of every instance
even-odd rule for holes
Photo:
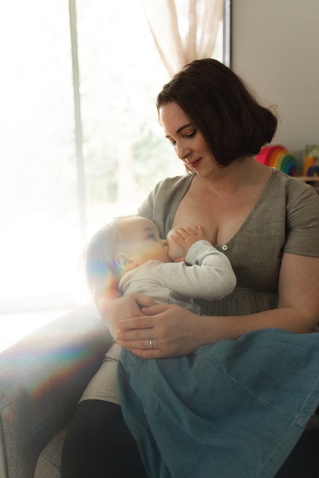
[[[273,144],[319,144],[319,0],[231,0],[231,68],[278,105]]]

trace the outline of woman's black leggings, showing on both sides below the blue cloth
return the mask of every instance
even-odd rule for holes
[[[318,411],[317,411],[318,413]],[[137,444],[124,423],[121,407],[86,400],[66,434],[61,478],[146,478]],[[275,478],[319,478],[319,429],[308,430]]]

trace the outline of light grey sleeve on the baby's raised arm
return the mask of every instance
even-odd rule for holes
[[[197,241],[191,246],[185,262],[158,265],[151,270],[163,287],[193,299],[219,300],[230,294],[236,277],[230,261],[208,241]]]

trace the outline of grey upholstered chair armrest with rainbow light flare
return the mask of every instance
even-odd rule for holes
[[[0,478],[33,478],[39,454],[71,421],[112,342],[88,304],[0,353]]]

